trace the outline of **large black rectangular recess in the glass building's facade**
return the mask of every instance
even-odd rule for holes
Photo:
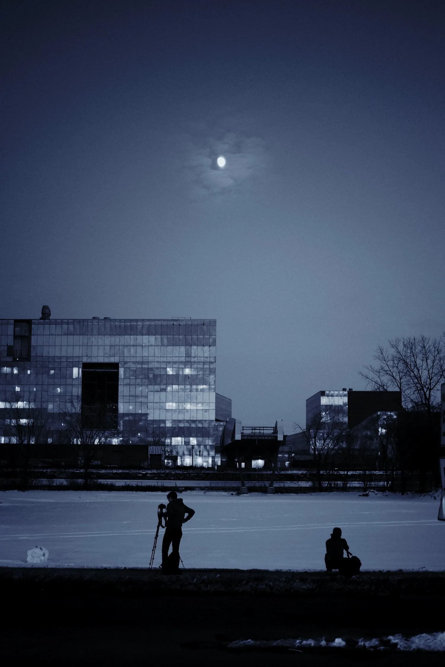
[[[82,364],[82,426],[118,428],[119,364]]]

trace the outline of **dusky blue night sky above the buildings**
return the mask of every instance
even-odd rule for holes
[[[0,317],[216,317],[286,433],[443,331],[443,1],[1,7]]]

